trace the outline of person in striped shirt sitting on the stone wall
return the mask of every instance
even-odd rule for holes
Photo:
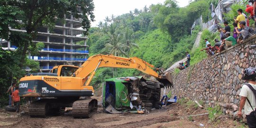
[[[244,40],[246,40],[247,38],[249,38],[255,34],[254,29],[246,26],[245,21],[241,21],[239,23],[239,26],[242,28],[242,31],[238,36],[238,43],[243,43]]]

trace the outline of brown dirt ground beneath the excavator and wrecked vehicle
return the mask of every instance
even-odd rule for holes
[[[102,108],[90,119],[73,119],[69,113],[47,118],[30,118],[27,106],[20,111],[24,114],[0,110],[0,128],[243,128],[243,124],[229,118],[219,117],[218,122],[209,122],[208,115],[188,118],[188,115],[207,113],[200,108],[188,108],[179,103],[163,106],[145,114],[109,114]]]

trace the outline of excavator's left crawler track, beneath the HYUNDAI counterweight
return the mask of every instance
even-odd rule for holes
[[[49,106],[47,102],[44,101],[36,101],[32,102],[29,105],[29,116],[36,118],[45,118],[49,111]]]

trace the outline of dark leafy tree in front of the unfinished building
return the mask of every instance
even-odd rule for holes
[[[53,27],[60,20],[64,22],[65,15],[82,19],[84,35],[89,34],[90,23],[94,21],[93,0],[0,0],[0,38],[17,46],[15,51],[0,49],[0,97],[11,82],[18,82],[25,71],[24,66],[38,72],[39,63],[28,60],[27,53],[37,55],[43,44],[34,43],[37,28]],[[26,32],[14,29],[26,30]],[[0,99],[0,104],[4,105]]]

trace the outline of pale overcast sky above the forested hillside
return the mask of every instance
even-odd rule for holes
[[[106,16],[118,16],[129,13],[130,10],[143,9],[151,4],[164,3],[165,0],[93,0],[95,9],[95,22],[91,23],[91,27],[96,27],[100,21],[103,21]],[[177,0],[179,7],[188,5],[189,0]]]

